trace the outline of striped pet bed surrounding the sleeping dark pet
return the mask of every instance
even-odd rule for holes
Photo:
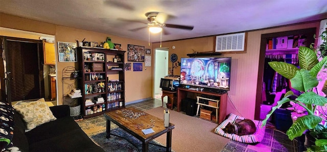
[[[258,143],[261,142],[262,139],[264,138],[265,135],[265,129],[266,126],[261,126],[262,125],[262,121],[259,120],[252,120],[255,125],[256,125],[256,132],[252,135],[244,135],[244,136],[239,136],[236,134],[228,134],[225,133],[222,129],[225,128],[225,126],[228,124],[228,122],[230,123],[234,123],[236,119],[244,119],[244,117],[235,115],[235,114],[229,114],[229,116],[227,117],[226,120],[224,120],[223,122],[221,122],[217,128],[215,129],[215,133],[217,133],[218,135],[221,135],[223,137],[229,138],[231,140],[235,140],[238,142],[243,142],[243,143]]]

